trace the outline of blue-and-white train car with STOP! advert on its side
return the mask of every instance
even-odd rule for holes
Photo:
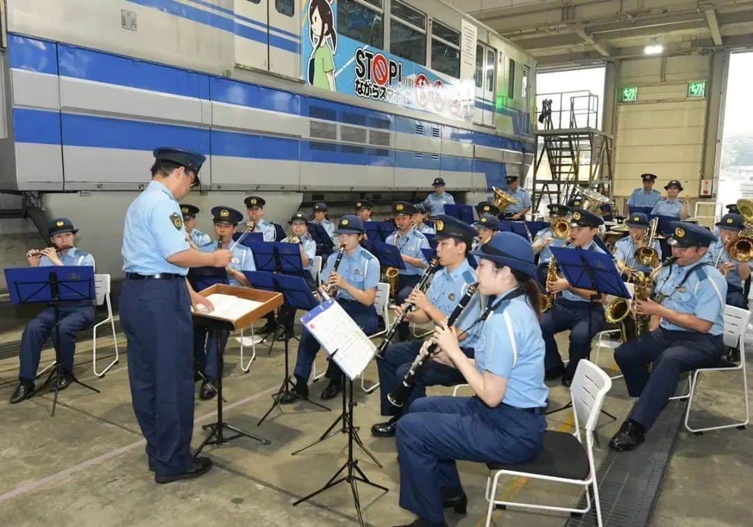
[[[480,200],[532,162],[535,60],[440,0],[3,7],[0,190],[38,225],[74,218],[114,276],[160,145],[208,158],[185,201],[261,193],[279,222],[313,200],[422,199],[437,175]]]

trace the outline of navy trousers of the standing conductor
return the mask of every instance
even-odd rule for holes
[[[120,291],[136,419],[157,476],[193,466],[194,371],[191,298],[185,280],[130,280]]]

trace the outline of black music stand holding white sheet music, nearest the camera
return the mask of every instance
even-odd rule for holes
[[[326,327],[327,324],[319,324],[319,320],[317,320],[316,324],[318,331],[315,330],[313,321],[316,318],[319,318],[319,316],[325,312],[328,312],[328,314],[331,314],[333,312],[340,312],[341,322],[337,324],[337,329],[340,330],[343,334],[347,334],[346,337],[331,338],[330,336],[329,340],[324,340],[322,338],[321,328],[322,326]],[[377,461],[377,458],[374,458],[371,452],[366,449],[364,443],[361,442],[361,438],[358,437],[358,428],[353,426],[353,408],[355,407],[355,401],[353,398],[353,381],[357,379],[358,376],[361,375],[361,373],[363,373],[363,370],[366,368],[367,364],[369,364],[377,349],[375,346],[373,346],[373,343],[371,343],[369,338],[364,335],[363,331],[358,328],[352,318],[349,318],[347,313],[343,311],[343,308],[331,298],[327,298],[325,302],[320,303],[319,306],[316,306],[316,308],[306,313],[306,315],[303,315],[303,317],[300,318],[300,321],[306,327],[309,327],[309,330],[312,331],[312,335],[316,338],[316,340],[319,340],[322,348],[325,349],[325,351],[330,355],[330,360],[337,362],[337,365],[340,366],[340,369],[343,370],[343,379],[347,378],[348,388],[347,390],[343,390],[343,412],[335,420],[335,422],[332,423],[332,425],[325,431],[324,434],[322,434],[321,437],[319,437],[319,440],[316,440],[313,443],[304,446],[302,449],[296,450],[292,453],[292,455],[296,455],[298,452],[302,452],[303,450],[309,448],[309,446],[321,443],[323,440],[326,440],[329,437],[343,433],[348,434],[348,458],[343,466],[340,467],[340,470],[338,470],[334,474],[334,476],[332,476],[328,480],[328,482],[325,483],[324,486],[322,486],[321,489],[316,490],[309,495],[303,496],[303,498],[300,498],[297,501],[294,501],[293,505],[295,506],[302,503],[303,501],[308,501],[310,498],[313,498],[314,496],[325,492],[325,490],[337,486],[339,483],[348,483],[353,494],[355,511],[356,513],[358,513],[358,523],[363,526],[364,519],[361,515],[361,500],[358,497],[357,482],[360,481],[361,483],[366,483],[367,485],[383,490],[384,492],[389,492],[389,489],[387,489],[386,487],[370,481],[368,477],[366,477],[366,474],[361,471],[361,468],[358,467],[358,460],[353,456],[353,443],[355,442],[358,443],[358,446],[361,446],[361,449],[363,449],[363,451],[367,453],[367,455],[373,460],[374,463],[377,464],[377,466],[382,468],[382,465]],[[350,331],[348,326],[355,327],[355,330],[351,333],[348,333]],[[355,334],[360,337],[360,341],[358,337],[350,337],[351,335]],[[361,342],[363,343],[362,346]],[[338,347],[340,346],[340,343],[343,344],[341,347]],[[356,362],[358,364],[354,364]],[[342,428],[340,430],[332,431],[339,422],[343,423]],[[343,474],[343,471],[345,472],[345,475],[339,477],[340,474]]]

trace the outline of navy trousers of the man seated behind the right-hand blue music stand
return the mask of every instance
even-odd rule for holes
[[[588,317],[591,317],[589,334]],[[564,367],[559,356],[554,335],[560,331],[570,330],[570,361],[565,371],[566,379],[575,376],[575,368],[581,358],[588,358],[591,351],[591,339],[604,329],[604,307],[593,303],[589,308],[587,302],[556,300],[549,311],[541,315],[541,336],[547,346],[544,356],[544,370],[550,371]]]

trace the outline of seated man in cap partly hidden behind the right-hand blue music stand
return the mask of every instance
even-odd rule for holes
[[[568,248],[606,254],[593,241],[602,223],[602,218],[591,212],[584,209],[573,210],[570,224],[572,243]],[[576,288],[562,277],[553,282],[547,282],[547,291],[557,294],[557,297],[554,306],[541,316],[541,334],[544,335],[544,343],[547,345],[544,361],[546,375],[547,379],[556,379],[564,374],[562,384],[569,386],[575,375],[575,368],[578,367],[578,361],[581,358],[587,358],[590,353],[591,339],[604,327],[604,306],[601,302],[606,295],[602,294],[601,298],[593,302],[591,299],[596,291]],[[570,330],[570,361],[567,368],[562,363],[557,343],[554,340],[555,334],[565,330]]]

